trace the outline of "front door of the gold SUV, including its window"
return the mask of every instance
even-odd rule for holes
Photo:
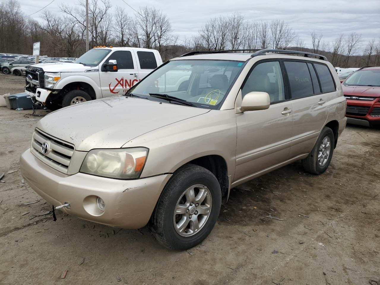
[[[236,115],[237,145],[234,181],[286,161],[293,129],[293,104],[289,101],[279,61],[256,63],[242,87],[242,97],[252,91],[269,93],[269,109]]]

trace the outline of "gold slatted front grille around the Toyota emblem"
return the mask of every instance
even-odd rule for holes
[[[49,151],[46,155],[42,153],[41,149],[44,142],[49,146]],[[70,160],[74,153],[74,146],[68,142],[52,138],[36,129],[33,133],[32,147],[30,150],[35,157],[47,165],[67,174]]]

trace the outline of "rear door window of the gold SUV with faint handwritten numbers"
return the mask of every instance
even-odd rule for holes
[[[306,62],[285,61],[291,98],[313,95],[313,84]]]

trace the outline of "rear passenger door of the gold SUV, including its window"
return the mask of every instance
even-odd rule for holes
[[[312,62],[284,60],[293,103],[290,157],[309,153],[328,117],[326,95]]]

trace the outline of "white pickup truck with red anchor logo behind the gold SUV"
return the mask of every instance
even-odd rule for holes
[[[96,47],[73,63],[42,63],[25,71],[25,92],[51,110],[123,94],[162,64],[154,49]]]

